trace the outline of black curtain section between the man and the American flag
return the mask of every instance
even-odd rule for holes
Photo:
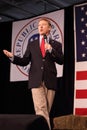
[[[52,116],[73,114],[74,103],[74,18],[73,6],[65,8],[64,21],[64,70],[58,79],[58,91]]]

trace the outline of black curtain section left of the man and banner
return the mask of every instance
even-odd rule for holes
[[[12,22],[0,23],[0,113],[34,113],[27,81],[10,82],[10,62],[3,49],[11,51]]]

